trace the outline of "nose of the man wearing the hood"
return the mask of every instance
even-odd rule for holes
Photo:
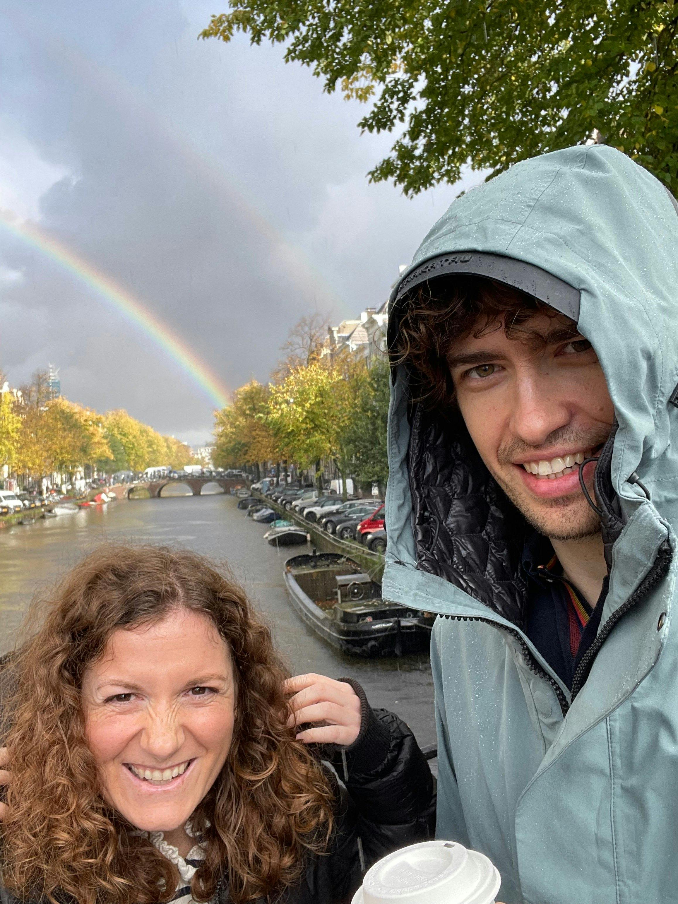
[[[514,383],[510,427],[528,446],[542,446],[554,430],[570,423],[570,406],[553,390],[551,381],[536,368]]]

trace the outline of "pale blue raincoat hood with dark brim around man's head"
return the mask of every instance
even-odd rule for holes
[[[611,579],[606,608],[637,584],[678,514],[677,212],[664,185],[626,155],[570,147],[514,165],[458,198],[391,296],[391,348],[408,293],[455,273],[520,287],[578,322],[617,414],[596,469],[608,564],[639,509],[636,523],[645,525],[616,589]],[[522,626],[522,519],[461,419],[444,422],[410,404],[402,365],[392,372],[389,457],[384,596],[401,598],[409,587],[420,608],[477,614],[481,603]],[[403,579],[403,566],[417,570],[419,582],[411,573]]]

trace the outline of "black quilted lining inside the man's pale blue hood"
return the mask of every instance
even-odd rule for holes
[[[415,405],[410,425],[418,568],[447,579],[523,628],[528,590],[521,568],[523,516],[490,476],[458,412],[444,420]],[[609,476],[615,431],[596,469],[608,568],[623,527]]]

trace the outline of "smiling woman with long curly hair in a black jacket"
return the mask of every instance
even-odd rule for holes
[[[4,675],[5,901],[338,902],[432,832],[407,726],[353,682],[289,679],[208,560],[104,546],[35,611]]]

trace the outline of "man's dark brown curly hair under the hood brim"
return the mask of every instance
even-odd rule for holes
[[[449,410],[455,387],[447,364],[453,344],[466,336],[481,336],[504,329],[519,338],[523,325],[535,314],[545,314],[570,327],[574,321],[519,289],[483,277],[438,278],[420,287],[402,305],[393,363],[410,368],[414,401],[429,409]]]

